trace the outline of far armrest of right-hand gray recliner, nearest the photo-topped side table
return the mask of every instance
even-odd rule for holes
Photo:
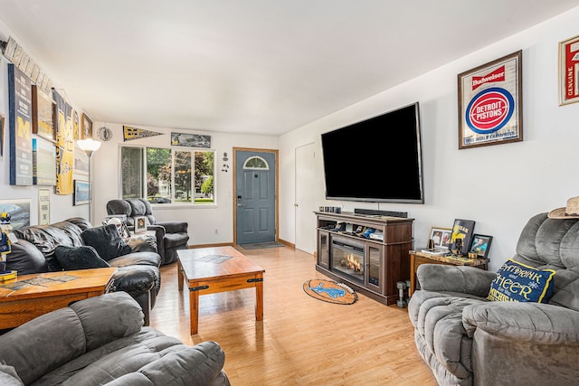
[[[420,289],[427,291],[449,291],[487,297],[494,272],[467,266],[445,266],[422,264],[416,270]]]

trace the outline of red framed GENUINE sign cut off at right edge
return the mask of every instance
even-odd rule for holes
[[[579,102],[579,36],[559,42],[559,105]]]

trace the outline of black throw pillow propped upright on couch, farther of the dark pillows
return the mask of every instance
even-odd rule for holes
[[[109,224],[90,228],[81,233],[85,245],[97,249],[100,259],[109,261],[131,252],[125,240],[120,237],[117,225]]]

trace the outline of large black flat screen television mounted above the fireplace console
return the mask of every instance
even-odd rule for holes
[[[321,135],[326,198],[423,203],[418,102]]]

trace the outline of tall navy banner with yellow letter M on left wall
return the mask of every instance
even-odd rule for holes
[[[33,184],[32,83],[23,71],[8,64],[10,109],[10,184]]]

